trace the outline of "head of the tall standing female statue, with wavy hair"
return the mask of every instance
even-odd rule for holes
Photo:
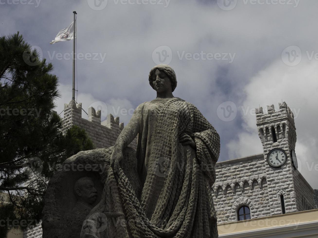
[[[169,82],[171,84],[171,92],[173,92],[176,89],[176,86],[177,86],[176,73],[169,65],[159,64],[150,70],[149,84],[156,91],[161,90],[160,86],[158,88],[156,87],[155,81],[157,78],[159,79],[162,78],[163,83],[164,83],[164,79],[169,79]]]

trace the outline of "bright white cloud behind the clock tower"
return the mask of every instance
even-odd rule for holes
[[[302,61],[298,66],[290,67],[278,60],[268,68],[252,77],[245,86],[246,98],[242,102],[246,108],[257,108],[274,104],[278,110],[278,102],[287,102],[294,111],[297,133],[296,154],[302,164],[301,174],[309,183],[317,188],[317,173],[312,164],[318,164],[317,118],[318,110],[318,70],[317,61]],[[297,115],[298,114],[298,115]],[[262,153],[261,142],[256,131],[255,115],[243,115],[243,128],[238,139],[227,144],[229,155],[241,157]],[[316,167],[317,168],[317,167]]]

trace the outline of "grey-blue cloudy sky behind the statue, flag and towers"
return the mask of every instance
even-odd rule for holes
[[[170,64],[174,96],[195,104],[220,134],[219,161],[262,153],[253,109],[286,101],[301,173],[318,188],[317,9],[316,0],[0,0],[0,33],[19,31],[54,64],[58,113],[72,98],[72,41],[49,43],[74,10],[85,110],[93,105],[102,119],[112,113],[127,124],[156,97],[149,70]]]

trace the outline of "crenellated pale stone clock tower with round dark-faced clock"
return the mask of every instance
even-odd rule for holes
[[[263,145],[271,215],[301,211],[302,176],[297,170],[294,114],[286,102],[279,103],[279,111],[271,105],[267,106],[267,114],[262,107],[255,112]]]

